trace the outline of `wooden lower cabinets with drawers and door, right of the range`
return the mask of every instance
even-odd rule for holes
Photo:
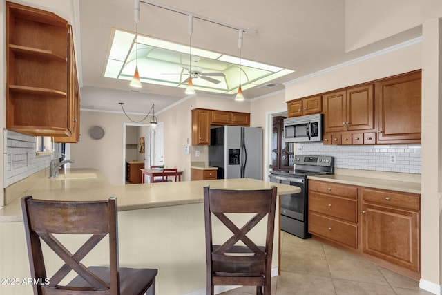
[[[417,280],[420,204],[419,194],[309,180],[309,233]]]

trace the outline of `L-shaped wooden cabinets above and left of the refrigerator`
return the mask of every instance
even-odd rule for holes
[[[211,125],[250,126],[250,113],[192,110],[192,145],[209,145]]]

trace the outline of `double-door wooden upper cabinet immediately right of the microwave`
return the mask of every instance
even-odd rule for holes
[[[373,84],[323,95],[324,132],[374,129]]]

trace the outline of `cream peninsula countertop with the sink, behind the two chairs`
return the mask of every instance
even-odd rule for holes
[[[93,177],[95,178],[88,178]],[[66,175],[57,178],[40,178],[32,183],[21,196],[33,196],[44,200],[107,200],[117,197],[118,211],[167,207],[203,202],[203,187],[220,189],[267,189],[275,185],[278,195],[299,193],[298,187],[276,184],[251,178],[229,180],[198,180],[184,182],[158,182],[153,184],[109,184],[100,171],[95,169],[66,169]],[[20,199],[16,198],[0,207],[0,222],[20,222]]]

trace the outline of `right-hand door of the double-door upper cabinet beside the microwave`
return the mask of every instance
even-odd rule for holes
[[[347,90],[347,130],[374,129],[373,84]]]

